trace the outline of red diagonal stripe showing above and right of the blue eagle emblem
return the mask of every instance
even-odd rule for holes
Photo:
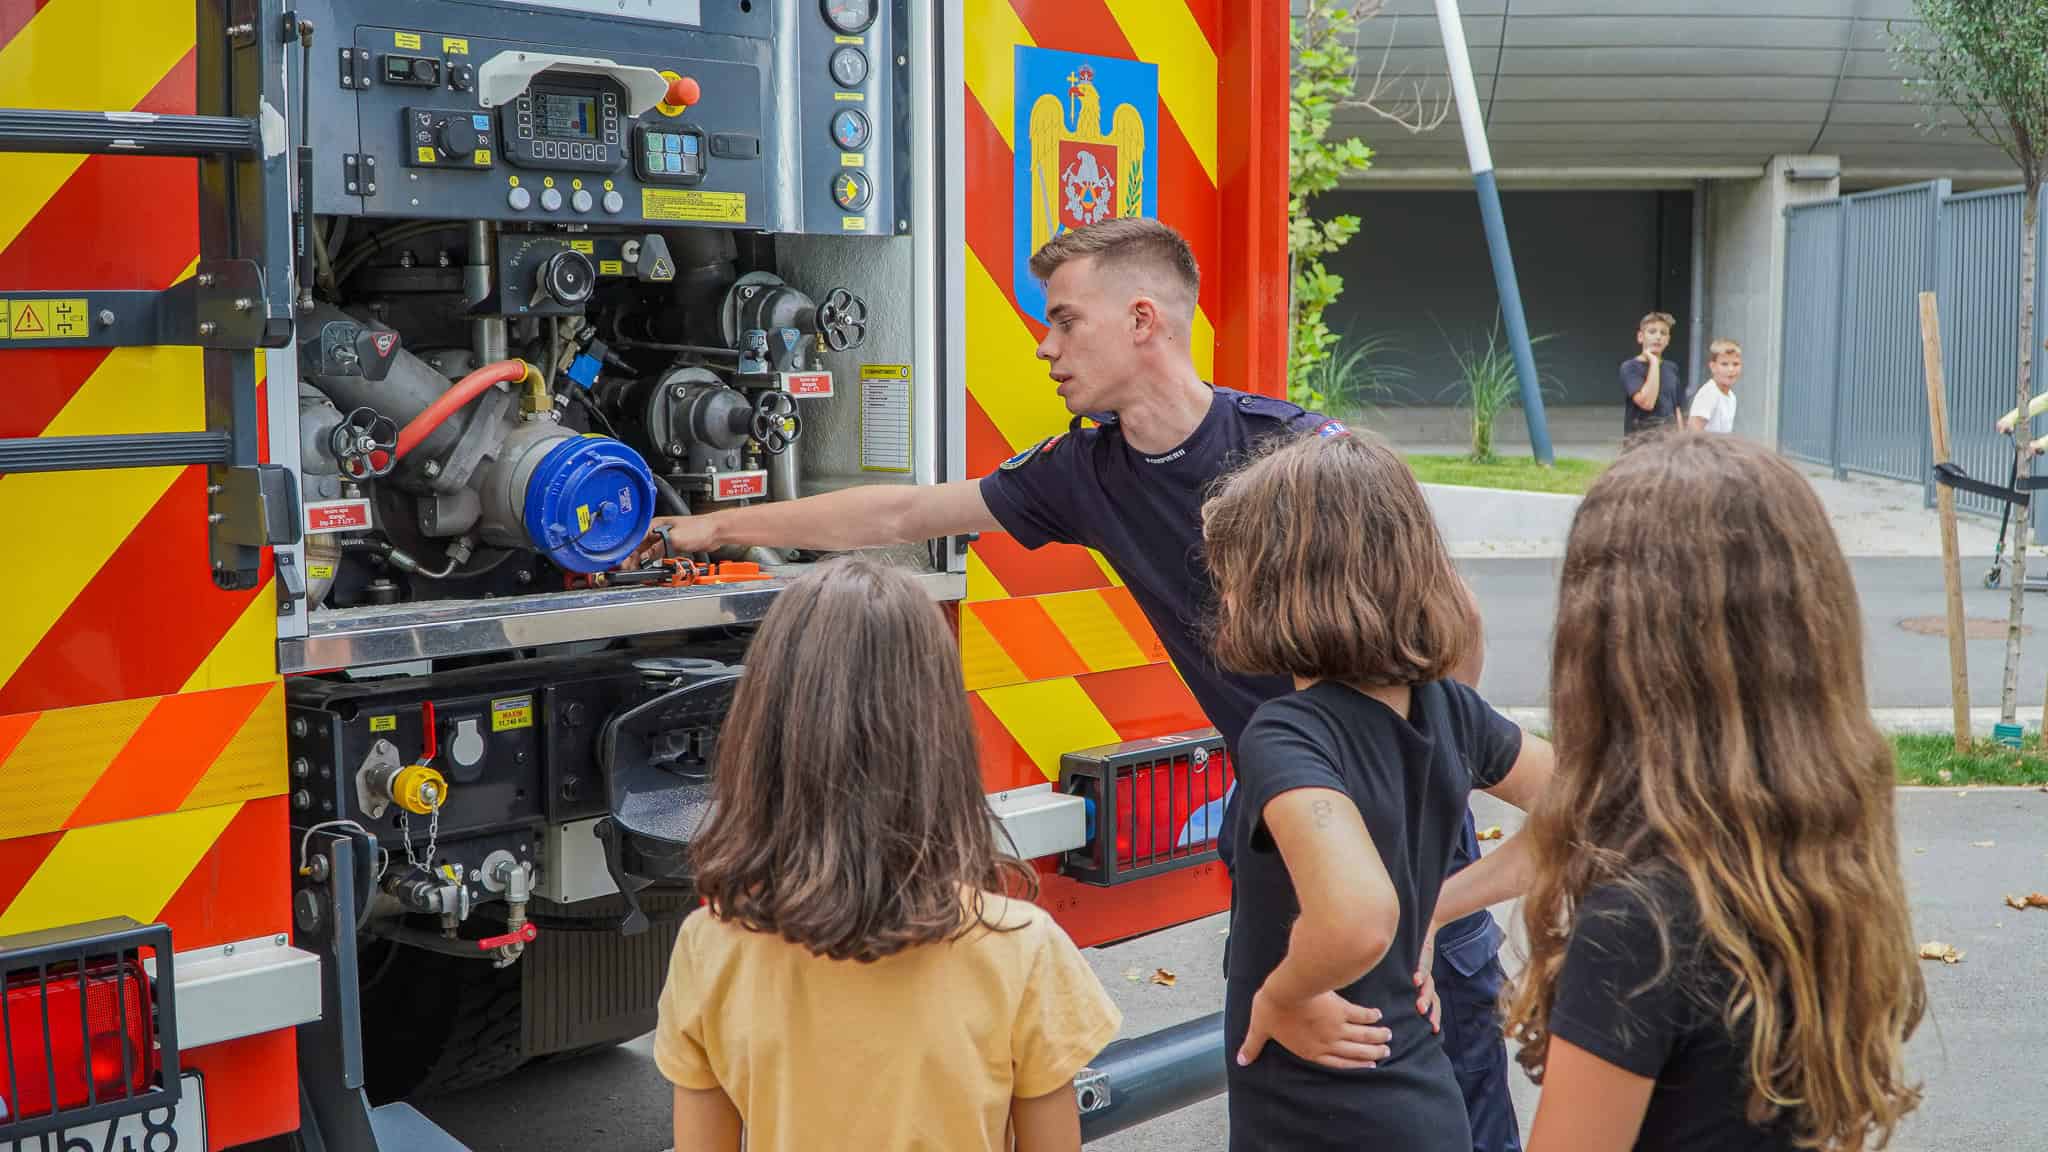
[[[1110,10],[1102,6],[1102,0],[1018,0],[1016,10],[1024,27],[1030,29],[1032,39],[1038,41],[1038,47],[1137,59],[1137,51],[1124,39],[1124,31],[1116,27]],[[1163,68],[1171,68],[1171,64]],[[1022,107],[1022,102],[1024,92],[1018,92],[1018,105]],[[1104,117],[1108,115],[1110,109],[1104,109]],[[1194,248],[1194,260],[1202,266],[1202,312],[1214,322],[1221,305],[1219,279],[1223,275],[1217,244],[1217,184],[1202,170],[1202,164],[1196,162],[1194,148],[1180,131],[1180,123],[1174,121],[1174,113],[1167,111],[1165,100],[1159,102],[1159,139],[1155,148],[1155,156],[1159,158],[1159,219],[1171,223],[1188,238],[1188,246]],[[969,150],[969,156],[973,156],[973,150]],[[1010,217],[1004,219],[1008,221]]]

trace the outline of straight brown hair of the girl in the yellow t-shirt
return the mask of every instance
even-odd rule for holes
[[[819,564],[748,646],[692,845],[698,894],[831,959],[961,937],[983,892],[1036,894],[995,849],[975,752],[938,605],[897,568]]]

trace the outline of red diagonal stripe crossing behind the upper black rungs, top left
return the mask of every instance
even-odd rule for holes
[[[6,14],[0,10],[0,25],[4,23]],[[195,70],[197,57],[186,53],[135,107],[145,113],[190,113]],[[0,250],[0,289],[170,287],[199,254],[195,164],[178,158],[88,156],[29,228]],[[139,189],[147,189],[150,219],[123,228],[141,207]],[[104,361],[106,348],[8,353],[16,387],[0,406],[0,437],[41,435]]]

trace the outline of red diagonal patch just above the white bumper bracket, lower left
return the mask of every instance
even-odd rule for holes
[[[283,795],[252,799],[236,812],[158,914],[180,949],[289,931],[287,877],[299,867],[297,840],[287,845],[289,822]]]

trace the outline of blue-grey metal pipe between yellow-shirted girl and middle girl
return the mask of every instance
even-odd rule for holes
[[[1073,1078],[1081,1142],[1217,1097],[1223,1078],[1223,1013],[1118,1039]]]

